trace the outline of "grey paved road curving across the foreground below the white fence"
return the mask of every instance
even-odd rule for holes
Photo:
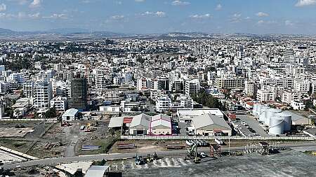
[[[296,143],[296,144],[282,144],[279,146],[283,146],[286,148],[297,148],[297,147],[309,147],[316,150],[316,142],[304,142],[304,143]],[[228,150],[228,148],[222,148],[222,150]],[[244,146],[240,147],[231,147],[230,150],[244,150]],[[209,152],[209,148],[199,148],[199,152]],[[147,152],[153,154],[154,152]],[[138,155],[142,155],[143,157],[147,155],[147,153],[138,153]],[[187,150],[170,150],[170,151],[157,151],[157,155],[165,157],[172,155],[185,155]],[[14,169],[16,167],[31,167],[31,166],[55,166],[61,163],[70,163],[70,162],[79,162],[79,161],[92,161],[92,160],[114,160],[114,159],[126,159],[133,158],[136,156],[136,153],[117,153],[117,154],[99,154],[99,155],[82,155],[77,157],[60,157],[60,158],[47,158],[41,160],[31,160],[27,162],[18,162],[15,164],[6,164],[4,165],[4,169]]]

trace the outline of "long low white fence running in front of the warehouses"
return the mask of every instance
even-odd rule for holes
[[[243,137],[243,136],[219,136],[221,140],[305,140],[305,141],[313,141],[315,138],[313,137],[299,137],[299,136],[251,136],[251,137]],[[177,140],[177,139],[205,139],[205,140],[213,140],[214,136],[121,136],[121,139],[138,139],[138,140]]]

